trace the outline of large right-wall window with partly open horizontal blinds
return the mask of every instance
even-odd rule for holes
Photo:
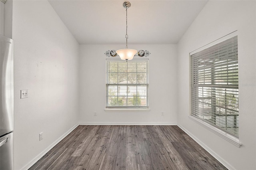
[[[199,50],[190,53],[191,115],[238,137],[237,36]]]

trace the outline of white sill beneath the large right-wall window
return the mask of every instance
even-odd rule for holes
[[[202,125],[203,127],[207,128],[208,130],[214,132],[215,134],[217,134],[218,136],[224,138],[225,140],[227,140],[228,142],[234,144],[235,146],[237,146],[238,148],[240,148],[240,146],[242,145],[240,142],[239,142],[239,138],[227,133],[227,132],[224,132],[223,130],[219,129],[219,128],[216,128],[200,119],[197,119],[196,117],[192,116],[192,115],[189,115],[188,116],[192,121]]]

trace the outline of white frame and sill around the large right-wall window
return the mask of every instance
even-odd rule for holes
[[[218,39],[218,40],[216,40],[216,41],[214,41],[214,42],[211,42],[211,43],[209,43],[209,44],[207,44],[207,45],[205,45],[205,46],[203,46],[203,47],[200,47],[199,49],[196,49],[195,51],[190,52],[190,57],[191,57],[191,55],[193,55],[193,54],[195,54],[195,53],[198,53],[199,51],[202,51],[202,50],[204,50],[204,49],[207,49],[207,48],[209,48],[209,47],[211,47],[211,46],[213,46],[213,45],[216,45],[216,44],[218,44],[218,43],[220,43],[220,42],[223,42],[223,41],[225,41],[225,40],[228,40],[228,39],[230,39],[230,38],[232,38],[232,37],[234,37],[234,36],[238,36],[238,32],[237,32],[237,31],[232,32],[232,33],[230,33],[230,34],[228,34],[228,35],[226,35],[226,36],[224,36],[224,37],[222,37],[222,38],[220,38],[220,39]],[[191,61],[190,61],[190,62],[191,62]],[[190,63],[190,67],[192,67],[192,66],[191,66],[191,63]],[[191,71],[191,69],[190,69],[190,71]],[[190,72],[190,75],[192,75],[192,72]],[[191,79],[190,82],[192,82],[192,76],[190,76],[190,79]],[[192,87],[190,86],[190,88],[192,88]],[[190,89],[190,92],[191,92],[191,89]],[[192,93],[192,92],[191,92],[191,93]],[[191,98],[190,98],[190,103],[191,103]],[[237,147],[240,147],[240,146],[242,145],[242,144],[240,143],[238,137],[236,137],[236,136],[234,136],[234,135],[232,135],[232,134],[229,134],[228,132],[225,132],[225,131],[221,130],[221,129],[218,128],[218,127],[215,127],[215,126],[213,126],[213,125],[210,125],[210,124],[206,123],[205,121],[203,121],[202,119],[199,119],[198,117],[196,117],[195,115],[193,115],[193,113],[192,113],[192,106],[191,106],[191,105],[190,105],[190,111],[191,111],[191,113],[190,113],[190,115],[188,115],[188,117],[189,117],[191,120],[193,120],[193,121],[195,121],[196,123],[202,125],[203,127],[207,128],[208,130],[211,130],[211,131],[214,132],[215,134],[218,134],[218,136],[224,138],[225,140],[227,140],[228,142],[234,144],[234,145],[237,146]]]

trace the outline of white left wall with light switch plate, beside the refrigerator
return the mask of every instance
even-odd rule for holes
[[[20,170],[78,123],[79,45],[48,1],[13,1],[12,26],[14,169]],[[22,89],[28,98],[20,99]]]

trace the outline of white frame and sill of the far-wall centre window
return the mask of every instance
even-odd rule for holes
[[[148,61],[148,59],[132,59],[131,61],[124,61],[124,60],[121,60],[121,59],[106,59],[106,108],[105,108],[105,111],[106,112],[143,112],[143,111],[150,111],[150,109],[149,109],[149,106],[148,106],[148,103],[149,103],[149,100],[148,100],[148,86],[149,86],[149,75],[148,75],[148,72],[149,72],[149,70],[148,70],[148,67],[147,67],[147,83],[142,83],[142,84],[140,84],[140,83],[132,83],[132,84],[130,84],[130,83],[110,83],[109,82],[109,80],[108,80],[108,62],[111,62],[111,61],[113,61],[113,62],[134,62],[134,61],[143,61],[143,62],[147,62],[147,65],[149,65],[149,61]],[[129,85],[132,85],[132,86],[140,86],[140,85],[146,85],[146,87],[147,87],[147,91],[146,91],[146,106],[110,106],[110,105],[108,105],[108,87],[109,86],[118,86],[118,84],[120,85],[120,86],[129,86]],[[126,94],[127,96],[128,96],[128,93]],[[126,96],[126,97],[127,97]]]

